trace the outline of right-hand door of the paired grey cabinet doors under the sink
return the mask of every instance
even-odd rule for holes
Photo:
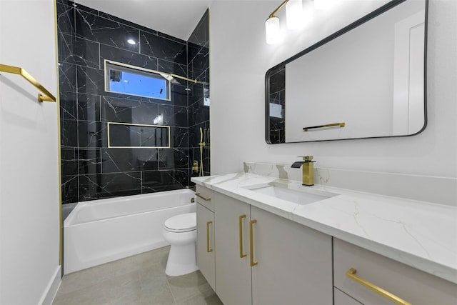
[[[253,304],[332,304],[331,236],[251,206]]]

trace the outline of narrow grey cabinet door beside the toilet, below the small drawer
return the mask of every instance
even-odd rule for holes
[[[214,213],[197,204],[197,264],[209,286],[216,290],[214,253]]]

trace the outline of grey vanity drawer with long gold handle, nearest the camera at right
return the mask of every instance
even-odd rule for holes
[[[406,266],[386,256],[333,239],[334,286],[363,304],[393,304],[386,297],[346,276],[356,276],[413,305],[457,304],[457,284]]]

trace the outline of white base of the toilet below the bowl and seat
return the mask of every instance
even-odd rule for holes
[[[171,245],[169,259],[166,262],[165,274],[180,276],[199,270],[196,265],[196,243]]]

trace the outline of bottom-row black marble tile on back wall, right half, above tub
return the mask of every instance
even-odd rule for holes
[[[143,193],[184,189],[188,185],[187,170],[143,171]]]

